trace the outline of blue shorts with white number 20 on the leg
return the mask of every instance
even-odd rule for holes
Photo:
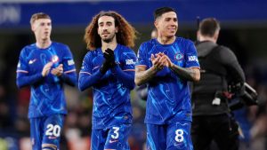
[[[64,114],[30,118],[32,149],[41,150],[45,147],[51,150],[59,149],[64,119]]]

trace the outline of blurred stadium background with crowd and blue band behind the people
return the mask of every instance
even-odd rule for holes
[[[139,32],[134,51],[150,39],[153,12],[171,6],[178,12],[177,36],[196,40],[197,17],[221,21],[218,43],[231,48],[245,70],[247,83],[259,94],[259,106],[235,112],[244,137],[240,150],[267,149],[267,1],[266,0],[0,0],[0,150],[29,150],[29,88],[17,89],[16,66],[20,50],[35,37],[29,20],[33,13],[52,17],[52,40],[69,45],[77,73],[87,52],[83,36],[93,15],[100,11],[122,14]],[[69,114],[61,150],[90,147],[92,91],[65,86]],[[129,138],[132,150],[142,150],[146,140],[143,124],[145,101],[131,92],[134,128]]]

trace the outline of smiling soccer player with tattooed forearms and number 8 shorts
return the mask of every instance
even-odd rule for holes
[[[137,85],[149,85],[147,149],[191,150],[189,81],[200,78],[197,51],[190,40],[175,36],[173,8],[158,8],[154,18],[158,38],[141,44],[134,79]]]

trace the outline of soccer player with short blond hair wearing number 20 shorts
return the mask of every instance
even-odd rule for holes
[[[67,114],[63,83],[77,84],[76,68],[69,47],[51,41],[49,15],[33,14],[30,25],[36,43],[20,51],[17,85],[31,88],[28,118],[32,149],[58,150]]]

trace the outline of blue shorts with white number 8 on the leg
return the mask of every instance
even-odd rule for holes
[[[190,137],[191,122],[147,124],[148,150],[193,150]]]

